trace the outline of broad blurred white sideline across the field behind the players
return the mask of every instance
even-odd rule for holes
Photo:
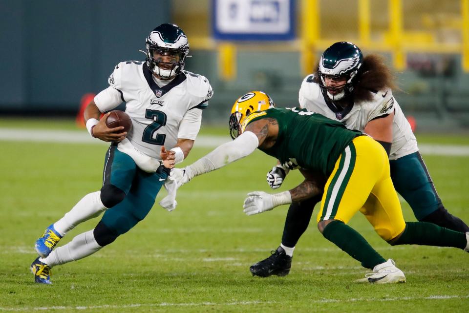
[[[108,145],[101,140],[91,138],[89,134],[76,130],[45,130],[0,127],[0,140],[34,141],[62,144],[99,144]],[[227,136],[198,136],[194,146],[213,148],[231,139]],[[459,145],[419,145],[420,152],[425,155],[468,156],[469,144]]]

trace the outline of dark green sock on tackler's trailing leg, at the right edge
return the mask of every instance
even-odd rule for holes
[[[464,232],[448,230],[432,223],[406,222],[401,237],[391,245],[423,245],[464,249],[467,243]]]

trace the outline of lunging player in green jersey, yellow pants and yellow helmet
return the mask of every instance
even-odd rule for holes
[[[306,179],[298,187],[277,194],[252,192],[244,201],[244,212],[257,214],[322,193],[318,228],[325,238],[373,270],[361,282],[399,283],[405,282],[405,275],[393,260],[386,261],[347,225],[357,211],[390,245],[469,250],[469,233],[425,222],[405,223],[386,151],[360,131],[305,109],[275,108],[272,99],[260,91],[249,92],[235,102],[230,131],[234,141],[218,146],[190,166],[172,170],[177,185],[248,156],[256,148],[281,163],[294,162],[305,170],[322,173],[327,177],[324,190]]]

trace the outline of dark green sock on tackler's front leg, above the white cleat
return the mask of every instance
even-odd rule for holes
[[[373,269],[376,265],[386,262],[361,234],[341,221],[327,224],[322,235],[361,262],[364,268]]]

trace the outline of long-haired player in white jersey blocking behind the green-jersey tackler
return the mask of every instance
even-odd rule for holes
[[[336,42],[322,54],[317,73],[303,80],[299,104],[341,121],[349,129],[363,131],[381,143],[389,156],[394,187],[417,220],[450,230],[469,231],[461,219],[443,206],[419,153],[417,140],[392,95],[393,87],[393,76],[382,57],[371,54],[363,58],[355,44]],[[280,187],[293,167],[292,164],[273,167],[267,173],[271,188]],[[253,275],[288,274],[293,250],[320,200],[321,196],[317,196],[290,206],[280,246],[271,256],[250,267]]]

